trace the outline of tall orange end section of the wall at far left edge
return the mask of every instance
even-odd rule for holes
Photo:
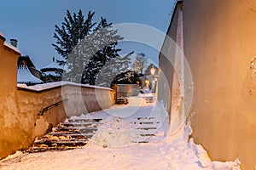
[[[0,157],[6,156],[14,150],[9,138],[13,138],[10,127],[15,127],[16,115],[15,90],[17,81],[17,59],[20,56],[18,49],[5,42],[0,32]],[[5,128],[6,127],[6,128]],[[16,127],[15,127],[16,128]],[[18,128],[18,127],[17,127]],[[18,130],[18,129],[17,129]],[[17,138],[17,137],[16,137]],[[9,150],[9,151],[6,151]],[[11,151],[12,150],[12,151]]]

